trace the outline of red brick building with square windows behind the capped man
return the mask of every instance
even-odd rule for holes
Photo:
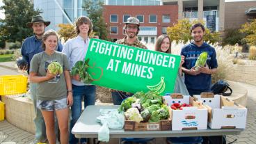
[[[140,22],[138,38],[147,43],[156,42],[157,37],[166,33],[168,26],[177,23],[177,5],[169,6],[104,6],[104,19],[113,41],[125,37],[123,26],[129,17]]]

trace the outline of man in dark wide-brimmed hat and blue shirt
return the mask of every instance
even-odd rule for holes
[[[23,67],[22,70],[27,70],[29,73],[29,67],[31,59],[35,54],[43,51],[42,49],[42,34],[45,33],[46,26],[49,26],[50,22],[46,22],[44,18],[40,15],[32,17],[31,22],[27,23],[27,26],[33,29],[35,35],[26,38],[22,43],[22,57],[28,63],[27,67]],[[62,51],[63,46],[61,42],[58,42],[57,51]],[[33,99],[33,106],[35,109],[35,141],[34,143],[44,143],[47,141],[46,131],[45,131],[45,121],[42,117],[41,111],[36,107],[36,83],[30,82],[31,99]],[[58,125],[56,125],[58,129]]]

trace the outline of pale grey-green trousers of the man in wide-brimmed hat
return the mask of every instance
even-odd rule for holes
[[[43,143],[47,140],[47,136],[46,136],[46,129],[45,129],[45,120],[42,117],[42,113],[41,113],[40,109],[38,109],[36,106],[37,83],[30,82],[29,86],[30,86],[30,92],[31,92],[31,99],[33,101],[33,106],[34,106],[34,110],[35,110],[35,118],[34,118],[35,140]],[[56,118],[55,118],[55,133],[56,133],[56,138],[58,138],[58,122],[57,122]]]

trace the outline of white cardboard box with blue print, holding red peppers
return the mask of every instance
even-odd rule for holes
[[[163,96],[166,104],[170,107],[173,103],[191,104],[190,107],[184,107],[183,110],[172,110],[172,129],[207,129],[207,108],[200,102],[195,102],[189,95],[173,94]]]

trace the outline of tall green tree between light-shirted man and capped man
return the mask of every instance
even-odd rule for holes
[[[109,40],[109,31],[106,28],[103,13],[103,2],[100,0],[83,0],[83,8],[88,13],[88,17],[93,22],[93,31],[102,40]]]

